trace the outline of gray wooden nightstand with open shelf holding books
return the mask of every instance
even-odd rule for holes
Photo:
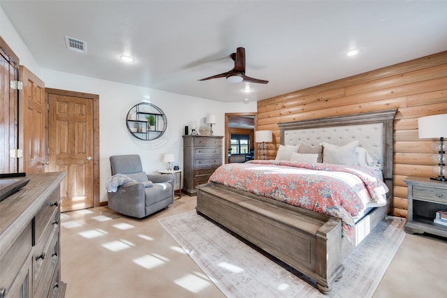
[[[406,177],[408,218],[405,232],[427,232],[447,237],[447,226],[433,222],[436,211],[447,209],[447,182],[426,177]]]

